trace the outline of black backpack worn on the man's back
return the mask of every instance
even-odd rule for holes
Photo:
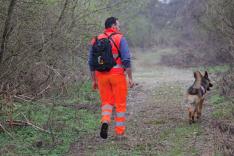
[[[110,71],[116,65],[116,60],[119,58],[119,49],[116,46],[115,42],[112,40],[112,36],[118,33],[112,33],[107,38],[98,39],[96,37],[95,43],[92,46],[92,66],[95,70],[100,72]],[[118,57],[114,59],[112,54],[111,42],[115,45],[118,50]]]

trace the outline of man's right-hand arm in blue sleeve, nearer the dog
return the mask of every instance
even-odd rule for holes
[[[132,79],[131,55],[125,37],[122,37],[120,41],[120,55],[123,67],[126,69],[126,73],[128,75],[129,86],[133,87],[134,82]]]

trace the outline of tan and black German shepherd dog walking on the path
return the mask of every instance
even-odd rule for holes
[[[205,94],[210,90],[213,84],[210,82],[207,71],[204,76],[199,72],[194,72],[195,81],[190,86],[185,95],[185,105],[188,107],[189,124],[195,122],[201,117],[202,106],[205,98]]]

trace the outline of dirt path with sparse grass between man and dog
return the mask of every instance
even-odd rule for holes
[[[192,126],[181,106],[193,82],[192,70],[157,65],[154,55],[135,54],[134,77],[139,85],[129,90],[127,138],[117,140],[111,125],[107,140],[99,138],[98,130],[74,143],[70,155],[214,155],[209,105],[202,121]]]

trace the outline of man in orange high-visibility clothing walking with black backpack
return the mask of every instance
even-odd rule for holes
[[[131,71],[131,59],[126,39],[120,32],[120,23],[117,18],[109,17],[105,21],[105,30],[96,39],[92,40],[92,48],[89,52],[89,67],[91,71],[92,87],[99,89],[101,98],[101,131],[100,136],[106,139],[108,126],[111,121],[112,109],[115,107],[115,133],[121,136],[125,132],[125,113],[127,102],[127,86],[133,87]],[[111,57],[113,61],[107,61],[108,56],[104,52],[99,54],[98,48],[104,43],[111,45]],[[100,49],[100,48],[99,48]],[[108,49],[108,48],[105,48]],[[100,50],[99,50],[100,51]],[[111,59],[109,59],[111,60]],[[108,65],[105,66],[105,62]],[[110,66],[110,67],[109,67]],[[107,68],[108,67],[108,68]],[[126,80],[128,76],[128,84]]]

